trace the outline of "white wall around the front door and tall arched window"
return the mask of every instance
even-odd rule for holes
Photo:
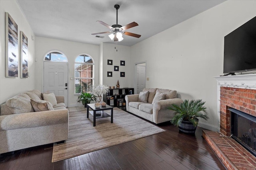
[[[77,103],[78,95],[74,94],[74,63],[80,54],[88,54],[94,60],[94,84],[99,84],[99,56],[100,46],[85,43],[76,43],[72,41],[64,41],[58,39],[50,39],[44,37],[36,37],[36,88],[43,90],[43,60],[44,56],[50,51],[60,51],[68,58],[68,107],[82,106]]]

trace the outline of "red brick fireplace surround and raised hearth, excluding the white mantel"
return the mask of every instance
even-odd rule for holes
[[[220,86],[220,133],[203,131],[203,137],[228,170],[256,170],[256,157],[230,138],[229,108],[256,116],[256,90]]]

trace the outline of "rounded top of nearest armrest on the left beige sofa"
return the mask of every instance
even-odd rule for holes
[[[68,123],[68,109],[0,116],[0,131]]]

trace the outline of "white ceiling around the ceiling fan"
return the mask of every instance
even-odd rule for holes
[[[124,35],[119,45],[132,46],[182,21],[188,20],[225,0],[16,0],[36,36],[81,43],[115,43],[108,35],[97,38],[91,33],[111,31],[97,23],[124,26],[133,21],[138,26],[128,32],[140,38]]]

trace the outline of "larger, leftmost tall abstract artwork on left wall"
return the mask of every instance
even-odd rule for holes
[[[18,25],[5,13],[5,76],[18,77]]]

